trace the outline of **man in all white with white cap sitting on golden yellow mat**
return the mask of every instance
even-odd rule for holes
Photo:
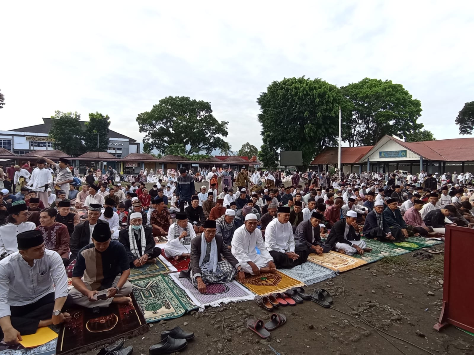
[[[255,247],[260,250],[260,254],[257,254]],[[265,247],[262,232],[257,229],[257,216],[253,213],[248,213],[245,224],[234,232],[232,254],[250,275],[276,271],[273,257]]]

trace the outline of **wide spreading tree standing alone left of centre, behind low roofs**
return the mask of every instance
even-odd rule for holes
[[[227,137],[228,122],[219,122],[212,115],[210,102],[168,96],[139,114],[137,122],[140,132],[146,133],[144,141],[161,152],[174,143],[183,144],[187,154],[230,149],[220,137]]]

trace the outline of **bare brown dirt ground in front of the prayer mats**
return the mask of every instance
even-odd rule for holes
[[[347,271],[308,286],[306,291],[328,290],[333,295],[335,309],[360,319],[359,311],[375,327],[406,339],[431,354],[472,354],[474,337],[454,326],[440,333],[433,329],[442,304],[443,257],[435,256],[433,260],[425,261],[413,258],[411,254],[386,258]],[[238,355],[275,354],[269,345],[281,355],[427,354],[384,335],[398,350],[369,325],[335,309],[325,309],[311,301],[295,307],[280,307],[278,312],[286,315],[286,324],[272,331],[268,340],[263,340],[246,328],[246,320],[258,318],[266,321],[271,312],[258,307],[254,301],[229,303],[210,308],[220,311],[225,317],[225,340],[221,337],[222,317],[219,313],[192,311],[181,318],[151,324],[150,332],[126,340],[126,345],[134,346],[135,355],[146,355],[149,346],[159,341],[161,331],[179,325],[196,335],[181,354],[232,354],[224,344]],[[88,354],[96,353],[97,350]]]

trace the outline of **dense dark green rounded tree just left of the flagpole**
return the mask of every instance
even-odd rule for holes
[[[302,151],[303,166],[327,146],[337,143],[341,91],[332,84],[305,77],[273,81],[257,99],[266,156],[271,151]]]

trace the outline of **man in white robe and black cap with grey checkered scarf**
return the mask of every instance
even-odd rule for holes
[[[164,247],[166,257],[189,257],[191,253],[191,240],[196,237],[192,224],[188,222],[186,213],[176,213],[176,222],[168,229],[168,242]]]

